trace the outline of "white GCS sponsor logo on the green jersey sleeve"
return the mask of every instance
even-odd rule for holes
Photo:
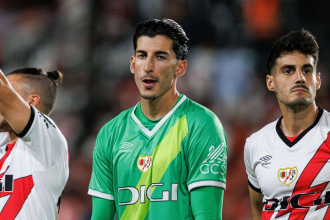
[[[209,172],[213,174],[225,174],[225,164],[227,156],[224,151],[224,143],[220,143],[217,147],[210,146],[208,154],[202,162],[199,170],[203,174]]]

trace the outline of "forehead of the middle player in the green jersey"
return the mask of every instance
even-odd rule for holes
[[[149,37],[142,35],[137,38],[136,50],[143,51],[166,51],[170,52],[172,49],[173,40],[165,35],[155,35]],[[174,52],[174,51],[173,51]]]

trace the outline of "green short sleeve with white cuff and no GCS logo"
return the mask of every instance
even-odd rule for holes
[[[106,139],[103,137],[104,127],[96,137],[93,150],[92,173],[88,186],[88,194],[96,197],[114,200],[112,187],[111,152],[108,150]]]

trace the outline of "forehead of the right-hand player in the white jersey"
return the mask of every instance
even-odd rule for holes
[[[303,54],[297,50],[292,52],[282,52],[276,59],[276,66],[280,68],[283,65],[302,66],[310,64],[314,66],[314,57],[311,55]]]

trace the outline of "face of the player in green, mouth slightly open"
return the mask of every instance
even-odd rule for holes
[[[134,74],[140,96],[153,100],[175,89],[176,77],[180,76],[177,70],[182,61],[176,59],[172,40],[167,36],[138,37],[135,56],[130,58],[130,71]]]

